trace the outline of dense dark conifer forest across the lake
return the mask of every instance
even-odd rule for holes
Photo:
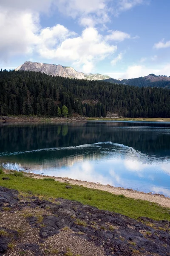
[[[170,90],[0,71],[0,115],[170,117]]]

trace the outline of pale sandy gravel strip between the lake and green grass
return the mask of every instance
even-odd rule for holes
[[[3,170],[6,174],[9,174],[11,171],[8,170]],[[103,185],[100,183],[94,183],[94,182],[89,182],[89,181],[82,181],[82,180],[74,180],[72,178],[68,177],[55,177],[55,176],[48,176],[48,175],[40,175],[40,174],[35,174],[33,172],[23,172],[26,177],[31,177],[34,179],[44,179],[44,178],[53,178],[55,181],[59,181],[62,183],[69,183],[72,185],[78,185],[78,186],[83,186],[89,189],[98,189],[106,192],[110,192],[115,195],[124,195],[125,197],[128,198],[133,198],[133,199],[140,199],[140,200],[145,200],[149,202],[153,202],[156,204],[161,205],[162,207],[168,207],[170,208],[170,197],[165,197],[163,194],[153,194],[152,192],[140,192],[136,191],[133,189],[125,189],[122,187],[114,187],[111,185]]]

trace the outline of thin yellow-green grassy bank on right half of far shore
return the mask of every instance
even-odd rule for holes
[[[138,122],[170,122],[170,118],[97,118],[90,117],[87,119],[88,121],[138,121]]]

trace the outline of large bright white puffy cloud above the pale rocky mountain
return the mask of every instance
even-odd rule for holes
[[[96,61],[103,60],[117,49],[116,46],[108,44],[95,28],[86,28],[81,36],[67,38],[71,33],[63,26],[57,26],[59,29],[55,26],[53,29],[41,31],[38,52],[43,58],[70,61],[77,67],[82,66],[83,71],[89,73]],[[60,35],[64,39],[62,42],[57,41]]]

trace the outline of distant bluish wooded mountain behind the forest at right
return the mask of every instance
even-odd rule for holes
[[[156,76],[150,74],[148,76],[133,78],[133,79],[106,79],[105,81],[116,83],[116,84],[125,84],[132,85],[137,87],[161,87],[170,89],[170,77],[167,76]]]

